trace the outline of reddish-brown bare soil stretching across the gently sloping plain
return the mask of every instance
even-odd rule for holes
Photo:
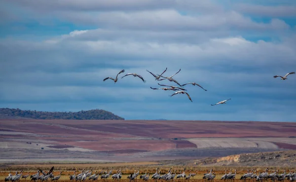
[[[252,128],[252,130],[250,130]],[[196,147],[174,138],[201,137],[290,137],[295,136],[296,123],[288,122],[229,122],[229,121],[157,121],[157,120],[34,120],[0,119],[2,139],[45,140],[47,146],[74,146],[97,151],[127,153]],[[35,135],[13,135],[24,132]],[[147,137],[147,140],[139,138]],[[153,140],[151,140],[153,139]],[[0,139],[1,140],[1,139]],[[283,148],[294,145],[277,143]],[[116,152],[117,151],[117,152]]]

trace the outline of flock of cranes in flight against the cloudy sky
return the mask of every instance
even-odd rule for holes
[[[148,70],[146,70],[147,72],[149,72]],[[155,80],[157,80],[157,81],[161,81],[161,80],[165,80],[165,79],[167,79],[167,80],[169,80],[170,82],[175,82],[176,84],[178,84],[179,86],[174,86],[174,85],[164,85],[164,84],[159,84],[158,83],[158,85],[160,85],[160,86],[164,86],[164,87],[160,87],[160,88],[152,88],[152,87],[150,87],[151,89],[153,89],[153,90],[158,90],[158,89],[162,89],[162,90],[174,90],[174,91],[176,91],[175,93],[173,93],[172,95],[169,95],[170,97],[172,97],[172,96],[174,96],[174,95],[177,95],[177,94],[186,94],[187,95],[187,97],[188,97],[188,99],[192,102],[192,99],[191,99],[191,97],[189,96],[189,94],[187,93],[187,92],[185,92],[185,91],[187,91],[186,89],[184,89],[184,88],[182,88],[183,86],[185,86],[185,85],[187,85],[187,84],[191,84],[191,85],[193,85],[193,86],[195,86],[195,85],[197,85],[197,86],[199,86],[200,88],[202,88],[203,90],[205,90],[205,91],[207,91],[206,89],[204,89],[201,85],[199,85],[199,84],[197,84],[197,83],[195,83],[195,82],[188,82],[188,83],[185,83],[185,84],[180,84],[177,80],[175,80],[174,78],[173,78],[173,76],[174,75],[176,75],[176,74],[178,74],[180,71],[181,71],[181,69],[177,72],[177,73],[175,73],[175,74],[173,74],[173,75],[171,75],[171,76],[163,76],[162,74],[163,73],[165,73],[167,71],[167,68],[165,69],[165,71],[163,71],[161,74],[154,74],[154,73],[151,73],[151,72],[149,72],[150,74],[152,74],[154,77],[155,77]],[[114,78],[112,78],[112,77],[106,77],[105,79],[103,79],[103,81],[106,81],[107,79],[111,79],[111,80],[113,80],[114,81],[114,83],[116,83],[117,81],[118,81],[118,75],[120,74],[120,73],[124,73],[125,72],[125,70],[121,70],[117,75],[116,75],[116,77],[115,77],[115,79]],[[281,77],[281,80],[286,80],[286,79],[288,79],[287,78],[287,76],[289,75],[289,74],[295,74],[295,72],[291,72],[291,73],[287,73],[285,76],[280,76],[280,75],[275,75],[275,76],[273,76],[274,78],[276,78],[276,77]],[[128,76],[128,75],[133,75],[134,77],[139,77],[140,79],[142,79],[142,81],[145,83],[146,82],[146,80],[143,78],[143,76],[141,76],[140,74],[137,74],[137,73],[128,73],[128,74],[125,74],[124,76],[122,76],[121,78],[124,78],[125,76]],[[226,104],[226,102],[227,101],[229,101],[230,99],[227,99],[227,100],[224,100],[224,101],[220,101],[220,102],[218,102],[218,103],[216,103],[216,104],[211,104],[211,106],[215,106],[215,105],[219,105],[219,104]]]

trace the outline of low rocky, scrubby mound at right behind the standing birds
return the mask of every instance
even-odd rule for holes
[[[194,161],[198,166],[296,166],[296,150],[244,153]]]

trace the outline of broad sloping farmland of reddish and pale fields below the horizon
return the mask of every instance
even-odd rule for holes
[[[295,133],[292,122],[0,119],[0,163],[12,159],[192,162],[295,151]]]

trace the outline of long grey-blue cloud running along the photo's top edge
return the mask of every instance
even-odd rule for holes
[[[209,0],[59,0],[56,1],[31,1],[15,0],[14,4],[45,11],[143,11],[155,9],[180,8],[195,11],[217,11],[221,9]]]

